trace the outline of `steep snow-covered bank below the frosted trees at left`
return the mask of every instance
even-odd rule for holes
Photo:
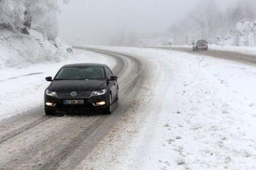
[[[0,30],[0,69],[6,67],[24,68],[31,64],[60,61],[65,49],[31,29],[30,35]]]

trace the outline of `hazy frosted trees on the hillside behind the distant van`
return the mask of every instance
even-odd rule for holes
[[[210,43],[218,43],[226,38],[235,23],[244,19],[251,22],[256,20],[255,0],[238,1],[224,10],[218,8],[215,0],[200,1],[184,19],[171,24],[169,38],[175,39],[177,45],[191,43],[194,39],[207,39]],[[248,46],[252,33],[250,30],[244,30],[242,34],[243,45]],[[237,36],[239,38],[240,35]],[[237,41],[240,42],[239,39]]]

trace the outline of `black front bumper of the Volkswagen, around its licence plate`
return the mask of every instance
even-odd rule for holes
[[[84,104],[66,105],[64,100],[84,100]],[[47,106],[46,102],[52,103],[53,106]],[[95,106],[97,102],[106,102],[105,105]],[[53,110],[67,110],[67,109],[90,109],[90,108],[104,108],[109,105],[108,93],[100,96],[92,96],[90,98],[57,98],[53,96],[44,95],[44,106],[47,109]]]

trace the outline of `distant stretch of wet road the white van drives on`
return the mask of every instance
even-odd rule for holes
[[[156,46],[156,47],[145,47],[145,48],[170,50],[170,47],[157,47]],[[256,66],[256,56],[255,55],[247,55],[247,54],[243,54],[243,53],[238,53],[236,51],[220,51],[220,50],[213,50],[213,49],[208,49],[208,51],[192,51],[192,47],[191,48],[172,47],[172,50],[195,54],[195,55],[203,55],[203,56],[216,57],[216,58],[220,58],[220,59],[227,59],[227,60],[236,61],[239,63],[250,64],[250,65]]]

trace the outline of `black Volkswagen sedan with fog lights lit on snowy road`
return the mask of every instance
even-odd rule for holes
[[[113,76],[105,64],[81,63],[64,65],[44,93],[46,115],[57,110],[84,110],[97,108],[110,114],[112,103],[118,102],[119,87],[117,77]]]

